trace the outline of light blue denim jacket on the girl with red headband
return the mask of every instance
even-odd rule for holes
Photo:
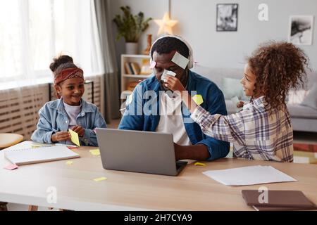
[[[85,134],[80,137],[82,146],[98,146],[97,136],[94,132],[96,127],[106,128],[104,117],[96,105],[87,103],[83,99],[81,112],[77,115],[77,125],[85,129]],[[39,122],[37,130],[31,136],[32,141],[39,143],[51,143],[52,134],[58,131],[68,131],[69,119],[65,111],[63,100],[58,99],[45,103],[39,110]],[[66,143],[60,141],[58,143]]]

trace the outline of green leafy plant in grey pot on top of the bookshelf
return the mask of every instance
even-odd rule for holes
[[[144,20],[144,13],[139,12],[137,15],[132,15],[129,6],[121,6],[123,15],[116,15],[113,22],[117,25],[118,34],[116,39],[125,38],[125,46],[127,54],[137,54],[137,42],[144,30],[149,27],[149,21],[152,18]]]

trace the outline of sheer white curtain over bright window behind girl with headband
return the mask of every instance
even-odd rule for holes
[[[51,81],[54,56],[104,74],[92,0],[0,0],[0,89]]]

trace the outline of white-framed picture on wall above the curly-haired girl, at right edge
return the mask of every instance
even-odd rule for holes
[[[297,45],[313,42],[313,15],[291,15],[288,41]]]

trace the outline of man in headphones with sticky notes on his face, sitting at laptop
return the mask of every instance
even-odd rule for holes
[[[192,96],[211,114],[227,115],[223,93],[209,79],[189,70],[192,49],[177,36],[164,36],[151,47],[154,76],[138,84],[129,98],[119,129],[173,134],[176,160],[216,160],[229,152],[229,143],[206,136],[190,118],[178,94],[164,85],[164,76],[180,79]],[[162,76],[163,75],[163,76]]]

